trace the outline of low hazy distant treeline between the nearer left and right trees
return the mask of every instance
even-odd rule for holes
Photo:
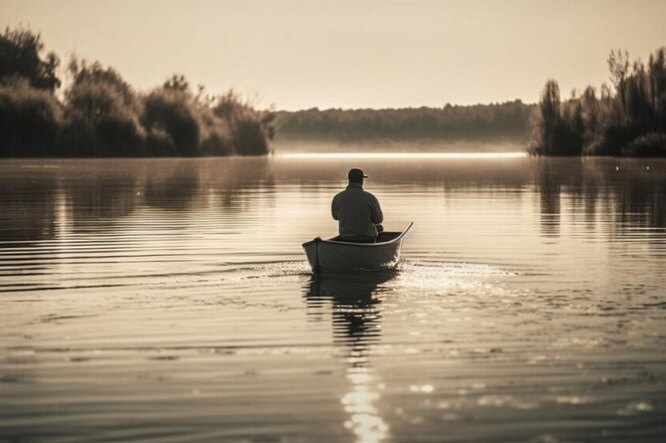
[[[529,136],[534,105],[520,100],[472,106],[280,111],[279,138],[358,140],[462,139]]]

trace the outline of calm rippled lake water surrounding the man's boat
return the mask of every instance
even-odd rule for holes
[[[395,272],[312,279],[349,167]],[[666,161],[0,162],[0,440],[658,440]]]

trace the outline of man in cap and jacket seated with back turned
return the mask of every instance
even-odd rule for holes
[[[384,230],[381,225],[384,214],[379,201],[363,190],[363,179],[368,178],[363,170],[350,169],[347,177],[347,189],[337,194],[331,204],[333,219],[338,221],[340,240],[374,243]]]

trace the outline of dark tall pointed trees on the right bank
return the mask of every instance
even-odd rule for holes
[[[529,151],[536,155],[666,155],[666,60],[664,48],[647,66],[626,51],[608,58],[614,88],[588,86],[562,101],[548,80],[533,121]]]

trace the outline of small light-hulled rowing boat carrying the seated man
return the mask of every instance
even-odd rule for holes
[[[328,240],[317,237],[303,243],[303,249],[315,274],[390,268],[398,264],[402,241],[413,224],[402,232],[380,233],[376,243],[341,241],[339,236]]]

